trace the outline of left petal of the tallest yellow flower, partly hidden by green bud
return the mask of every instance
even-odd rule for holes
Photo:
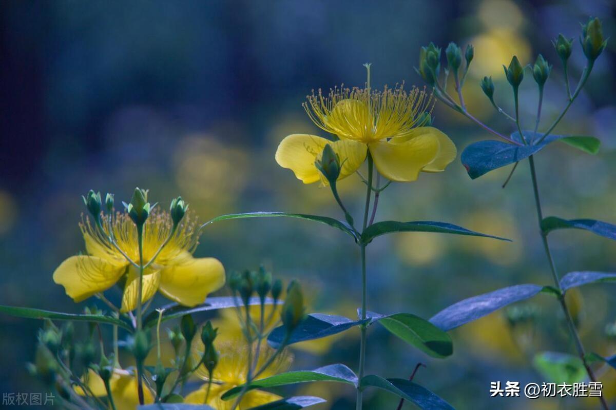
[[[366,158],[366,146],[350,140],[330,141],[316,135],[292,134],[278,145],[276,162],[283,168],[293,171],[296,178],[304,184],[312,184],[322,179],[315,167],[315,160],[322,154],[326,144],[330,144],[338,154],[342,170],[338,179],[346,178],[362,165]]]

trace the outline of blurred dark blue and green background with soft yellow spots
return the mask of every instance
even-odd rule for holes
[[[301,107],[312,89],[363,85],[367,61],[373,63],[373,87],[402,81],[423,86],[413,69],[421,45],[472,43],[475,59],[464,90],[469,111],[509,133],[511,124],[482,95],[479,79],[493,76],[496,100],[511,111],[501,65],[514,54],[526,64],[543,53],[554,64],[545,129],[565,103],[551,40],[558,33],[576,37],[574,85],[585,63],[579,23],[597,16],[606,37],[616,33],[608,0],[3,1],[0,8],[0,301],[65,312],[80,312],[86,303],[76,306],[51,275],[63,259],[83,251],[80,195],[89,189],[115,192],[119,202],[129,200],[134,187],[145,187],[163,207],[182,195],[203,221],[257,210],[342,218],[328,189],[304,186],[274,161],[286,135],[322,135]],[[616,222],[615,45],[609,42],[557,128],[597,136],[601,152],[590,156],[553,144],[537,156],[546,215]],[[523,127],[534,125],[536,104],[536,85],[527,75]],[[434,117],[460,152],[490,138],[439,104]],[[437,234],[376,239],[368,248],[370,310],[429,318],[503,286],[551,284],[527,165],[501,189],[509,170],[471,181],[458,158],[444,173],[384,191],[377,219],[446,221],[514,242]],[[345,179],[339,189],[359,217],[365,192],[359,177]],[[564,231],[551,242],[561,274],[615,269],[609,240]],[[285,280],[298,278],[315,312],[355,317],[360,304],[357,246],[328,227],[283,219],[228,221],[206,229],[196,254],[219,258],[227,271],[264,264]],[[583,341],[602,355],[616,350],[616,340],[606,334],[616,320],[614,290],[591,285],[569,294]],[[111,299],[119,297],[110,291]],[[491,381],[545,381],[532,367],[536,352],[573,352],[554,298],[540,295],[515,309],[452,331],[455,353],[447,360],[428,358],[373,326],[368,373],[406,378],[424,363],[415,380],[456,409],[495,403],[503,409],[594,408],[595,401],[579,398],[490,398]],[[508,314],[520,312],[518,320],[509,320]],[[25,371],[40,325],[0,316],[0,392],[42,391]],[[355,368],[358,336],[351,331],[318,355],[298,351],[293,368],[338,362]],[[616,372],[598,373],[613,403]],[[354,406],[352,389],[317,384],[293,392],[323,396],[328,403],[319,409]],[[369,392],[367,400],[370,409],[397,405],[387,393]]]

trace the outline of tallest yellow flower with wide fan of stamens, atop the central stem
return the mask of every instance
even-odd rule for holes
[[[293,170],[304,184],[326,184],[314,165],[326,144],[342,164],[338,179],[354,173],[368,151],[379,173],[392,181],[415,181],[420,171],[444,171],[455,159],[456,147],[437,128],[422,126],[421,114],[431,100],[425,90],[406,92],[403,86],[383,91],[336,88],[327,96],[320,90],[317,95],[313,92],[304,109],[315,125],[339,140],[291,134],[278,146],[276,161]]]

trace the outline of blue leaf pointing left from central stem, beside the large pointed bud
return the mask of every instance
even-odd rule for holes
[[[296,329],[294,329],[290,338],[286,341],[286,344],[321,339],[322,337],[344,332],[367,321],[370,321],[370,319],[366,319],[365,321],[351,320],[343,316],[311,313],[299,324]],[[267,337],[267,342],[269,342],[274,349],[277,349],[283,342],[285,342],[285,337],[285,326],[279,326],[278,328],[272,330]]]

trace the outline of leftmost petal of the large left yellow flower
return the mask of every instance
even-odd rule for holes
[[[67,295],[75,302],[81,302],[113,286],[124,270],[124,266],[96,256],[71,256],[55,269],[54,282],[64,286]]]

